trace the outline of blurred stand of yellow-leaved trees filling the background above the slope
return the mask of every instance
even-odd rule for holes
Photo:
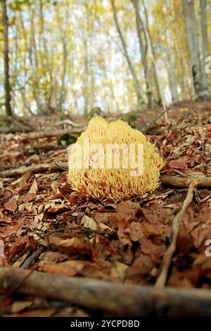
[[[210,7],[211,0],[1,0],[1,113],[86,115],[209,100]]]

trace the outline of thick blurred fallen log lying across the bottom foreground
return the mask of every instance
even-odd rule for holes
[[[211,316],[209,289],[159,289],[18,268],[0,268],[0,288],[101,309],[110,316]]]

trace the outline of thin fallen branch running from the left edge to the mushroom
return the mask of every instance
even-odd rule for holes
[[[67,162],[57,162],[57,163],[40,163],[40,164],[34,164],[30,165],[28,167],[20,167],[10,170],[4,170],[1,171],[0,177],[13,177],[18,175],[23,175],[27,172],[30,173],[39,173],[39,171],[45,171],[45,170],[66,170],[68,168]]]

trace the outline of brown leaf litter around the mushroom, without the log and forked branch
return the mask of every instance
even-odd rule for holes
[[[137,113],[131,124],[146,133],[165,159],[161,178],[211,176],[211,103],[175,105],[167,112],[168,124],[159,113],[162,110]],[[84,282],[89,277],[155,285],[187,187],[162,182],[155,192],[119,204],[79,196],[67,181],[67,149],[58,146],[58,135],[71,129],[55,127],[56,120],[56,115],[34,117],[27,125],[29,132],[8,129],[0,134],[0,267],[79,276]],[[72,120],[84,122],[73,116]],[[21,128],[25,130],[25,125]],[[194,189],[182,217],[166,285],[211,288],[207,239],[211,239],[211,190],[204,185]],[[96,314],[89,304],[77,305],[77,300],[70,304],[59,296],[47,299],[30,289],[22,293],[25,280],[11,285],[5,295],[3,275],[0,272],[1,316]],[[97,308],[100,316],[106,313],[101,305]]]

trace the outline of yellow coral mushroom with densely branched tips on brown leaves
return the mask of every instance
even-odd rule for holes
[[[90,120],[69,152],[72,189],[95,199],[124,201],[153,192],[165,165],[151,142],[126,122]]]

